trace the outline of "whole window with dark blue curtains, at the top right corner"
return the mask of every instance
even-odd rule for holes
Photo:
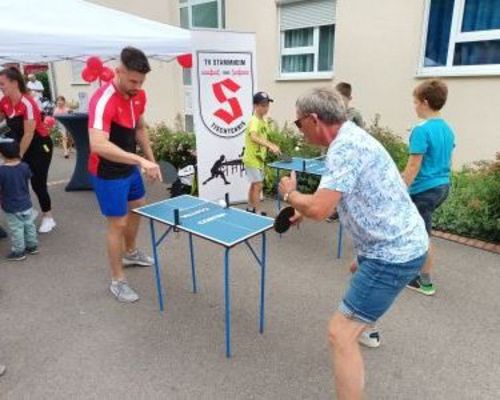
[[[500,0],[427,0],[419,75],[500,74]]]

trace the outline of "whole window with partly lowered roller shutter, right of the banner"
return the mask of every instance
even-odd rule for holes
[[[335,0],[278,2],[280,77],[323,79],[333,76]]]

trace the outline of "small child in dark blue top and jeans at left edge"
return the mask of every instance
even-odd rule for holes
[[[1,205],[12,241],[7,259],[20,261],[26,259],[26,253],[38,253],[36,214],[29,192],[31,171],[21,161],[19,143],[0,143],[0,154],[4,158],[4,164],[0,165]]]

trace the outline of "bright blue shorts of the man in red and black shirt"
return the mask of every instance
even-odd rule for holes
[[[128,202],[142,199],[146,194],[137,167],[126,178],[103,179],[92,176],[92,184],[101,212],[106,217],[124,217],[128,213]]]

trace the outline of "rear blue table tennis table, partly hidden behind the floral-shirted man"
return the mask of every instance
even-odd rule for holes
[[[286,161],[275,161],[268,165],[269,168],[276,169],[276,185],[280,181],[280,171],[295,171],[299,174],[308,174],[314,176],[322,176],[328,171],[325,165],[325,156],[317,158],[302,158],[302,157],[292,157],[290,162]],[[278,211],[281,208],[281,198],[276,186],[276,204]],[[337,240],[337,258],[342,257],[342,224],[339,221],[338,229],[338,240]]]

